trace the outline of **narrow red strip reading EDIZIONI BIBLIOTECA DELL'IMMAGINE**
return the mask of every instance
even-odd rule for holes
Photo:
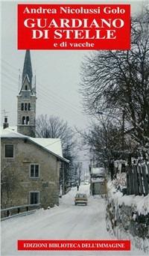
[[[21,251],[130,251],[130,240],[18,240]]]

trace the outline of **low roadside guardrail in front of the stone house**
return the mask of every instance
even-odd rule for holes
[[[9,207],[6,209],[1,209],[1,221],[5,219],[10,219],[13,217],[25,216],[31,213],[35,213],[39,209],[40,204],[26,204],[19,205],[17,207]]]

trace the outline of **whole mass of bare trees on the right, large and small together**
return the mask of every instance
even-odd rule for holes
[[[84,111],[93,117],[83,142],[101,162],[149,150],[148,31],[145,7],[132,18],[130,50],[95,51],[83,61],[80,94]]]

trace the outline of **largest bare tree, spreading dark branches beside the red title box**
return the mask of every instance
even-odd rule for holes
[[[124,112],[129,132],[144,146],[149,138],[148,31],[145,10],[142,16],[133,19],[129,51],[100,51],[86,57],[80,89],[86,112]]]

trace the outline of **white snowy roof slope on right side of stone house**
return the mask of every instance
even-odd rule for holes
[[[37,144],[45,147],[46,149],[56,153],[58,156],[63,157],[62,145],[60,138],[31,138],[31,141],[36,142]]]

